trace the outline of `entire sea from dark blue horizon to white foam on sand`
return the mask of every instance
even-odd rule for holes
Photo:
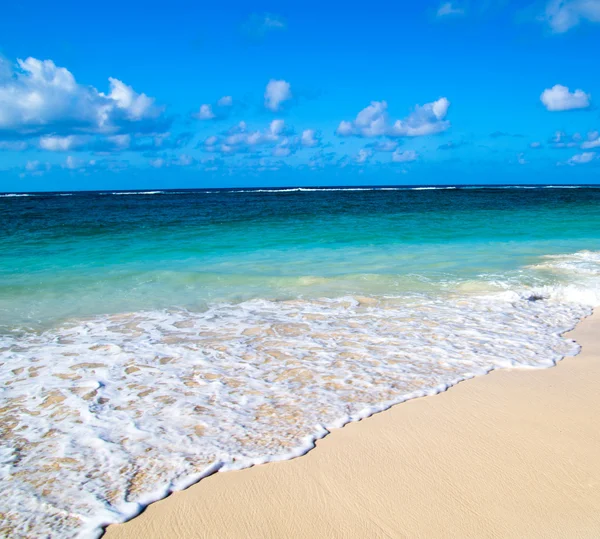
[[[0,234],[11,537],[96,537],[393,404],[551,367],[600,303],[592,186],[7,193]]]

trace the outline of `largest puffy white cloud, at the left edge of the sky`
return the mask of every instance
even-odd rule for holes
[[[41,137],[42,148],[65,151],[81,136],[162,133],[171,123],[153,98],[118,79],[110,77],[103,93],[52,60],[27,58],[8,67],[0,78],[0,139]]]

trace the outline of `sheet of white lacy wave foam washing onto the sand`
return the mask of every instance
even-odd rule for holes
[[[221,467],[576,353],[560,333],[589,308],[525,297],[253,300],[4,336],[0,512],[12,537],[96,535]]]

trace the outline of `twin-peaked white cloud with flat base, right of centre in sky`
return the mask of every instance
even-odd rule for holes
[[[391,122],[385,101],[373,101],[361,110],[353,121],[340,122],[336,133],[339,136],[359,137],[418,137],[441,133],[450,127],[446,114],[450,101],[445,97],[417,105],[403,120]]]

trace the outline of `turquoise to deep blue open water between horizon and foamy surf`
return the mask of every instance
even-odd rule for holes
[[[595,188],[5,197],[0,328],[448,289],[599,249],[599,202]]]

